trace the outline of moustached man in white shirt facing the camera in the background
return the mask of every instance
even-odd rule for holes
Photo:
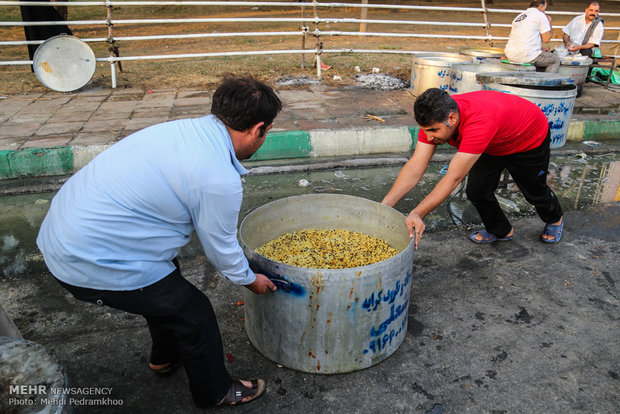
[[[564,26],[563,40],[569,52],[579,52],[592,57],[592,48],[600,46],[604,31],[603,19],[598,15],[600,8],[597,1],[591,1],[584,14]]]

